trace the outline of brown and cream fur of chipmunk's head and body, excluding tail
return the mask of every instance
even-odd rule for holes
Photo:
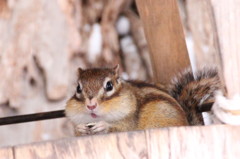
[[[106,78],[114,85],[110,96],[103,89]],[[92,119],[86,109],[85,99],[92,96],[98,101],[99,120],[111,125],[108,132],[188,125],[181,106],[162,87],[119,81],[116,69],[79,69],[78,81],[83,86],[82,94],[74,95],[65,111],[76,126],[98,121],[98,118]]]

